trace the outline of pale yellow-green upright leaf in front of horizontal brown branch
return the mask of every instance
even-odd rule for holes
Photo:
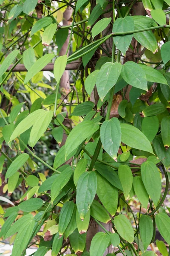
[[[61,79],[65,67],[67,64],[67,55],[62,55],[57,58],[57,60],[54,62],[54,77],[57,81],[57,84],[59,83],[59,80]]]

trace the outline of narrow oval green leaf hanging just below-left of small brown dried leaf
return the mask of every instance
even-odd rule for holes
[[[119,175],[120,182],[122,184],[125,199],[127,199],[133,185],[132,171],[129,166],[120,165],[118,170],[118,175]]]

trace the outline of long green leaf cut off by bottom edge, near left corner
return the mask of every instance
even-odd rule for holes
[[[20,230],[17,233],[16,239],[14,241],[14,246],[12,248],[12,256],[21,255],[23,250],[26,249],[26,246],[32,236],[35,221],[29,220],[26,224],[27,225],[20,227]]]

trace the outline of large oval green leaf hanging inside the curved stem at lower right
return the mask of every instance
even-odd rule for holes
[[[161,177],[156,164],[150,161],[142,163],[141,175],[145,189],[156,206],[161,195]]]

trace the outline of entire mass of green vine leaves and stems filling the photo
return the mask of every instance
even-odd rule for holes
[[[101,18],[108,12],[105,0],[99,0],[90,15],[88,0],[77,0],[76,4],[59,2],[54,10],[47,0],[14,3],[0,0],[1,15],[5,12],[4,20],[8,20],[0,28],[0,33],[5,35],[1,39],[0,98],[2,105],[4,99],[9,105],[0,109],[0,172],[4,174],[3,165],[8,160],[3,191],[8,190],[9,196],[24,187],[15,205],[7,197],[0,197],[13,205],[0,208],[3,215],[0,237],[12,236],[12,256],[25,255],[36,235],[39,248],[34,256],[44,256],[48,250],[52,256],[63,255],[68,247],[70,255],[103,256],[111,244],[118,247],[115,254],[153,256],[155,252],[147,251],[147,247],[155,241],[156,227],[170,245],[169,208],[162,207],[168,192],[170,167],[170,26],[166,24],[169,11],[165,12],[170,1],[142,0],[150,17],[131,15],[136,1],[117,5],[113,1],[111,9],[117,12],[116,18],[112,12],[113,19]],[[74,9],[72,25],[61,26],[60,9],[68,6]],[[38,20],[34,16],[37,8],[44,13]],[[18,27],[22,29],[18,31]],[[112,32],[104,35],[103,31],[110,28]],[[13,29],[19,39],[6,43]],[[59,51],[69,29],[67,52],[56,58],[55,41]],[[26,31],[24,35],[23,31]],[[96,36],[99,39],[95,40]],[[25,40],[17,49],[17,42],[22,38]],[[106,46],[112,38],[112,52],[109,52]],[[138,49],[142,47],[142,53],[134,52],[139,56],[136,61],[124,62],[129,47],[133,49],[132,40],[136,40]],[[42,45],[46,47],[44,55]],[[67,56],[70,45],[72,53]],[[6,55],[5,47],[14,49]],[[101,56],[95,70],[84,79],[90,71],[88,63],[98,48],[107,56]],[[74,86],[67,95],[68,105],[63,104],[60,79],[66,65],[79,58],[81,69],[74,74]],[[42,81],[40,71],[50,61],[54,62],[56,87]],[[28,71],[12,73],[18,63],[23,63]],[[12,84],[14,90],[11,92],[6,84]],[[129,85],[132,88],[127,99]],[[53,90],[55,93],[51,93]],[[94,90],[99,95],[97,103],[89,101]],[[117,108],[112,104],[114,94],[122,97]],[[78,105],[75,107],[73,103]],[[63,107],[71,121],[69,128],[63,124],[67,115]],[[116,116],[111,116],[112,110],[117,111]],[[45,136],[52,136],[60,144],[63,133],[68,137],[51,166],[33,148]],[[48,178],[45,172],[39,172],[39,176],[34,173],[37,169],[34,158],[52,171]],[[71,165],[67,163],[70,159]],[[166,181],[163,192],[162,175]],[[130,207],[134,197],[140,202],[137,215]],[[61,210],[56,212],[56,206]],[[130,212],[134,226],[124,210]],[[91,220],[105,233],[96,233],[88,252],[86,238]],[[114,233],[102,223],[113,225]],[[165,243],[156,242],[163,256],[167,256]]]

